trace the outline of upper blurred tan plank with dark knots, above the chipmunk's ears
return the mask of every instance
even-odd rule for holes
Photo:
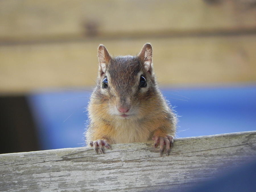
[[[0,41],[256,30],[255,0],[1,0]]]

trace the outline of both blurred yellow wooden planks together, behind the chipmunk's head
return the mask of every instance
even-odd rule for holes
[[[97,47],[153,46],[161,86],[256,81],[256,1],[0,1],[0,93],[92,86]]]

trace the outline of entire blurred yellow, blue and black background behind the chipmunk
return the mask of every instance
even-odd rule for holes
[[[83,146],[98,45],[146,42],[177,137],[255,130],[256,0],[1,0],[0,153]]]

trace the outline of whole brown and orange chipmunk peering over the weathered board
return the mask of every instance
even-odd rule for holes
[[[152,65],[152,46],[136,56],[111,57],[98,47],[99,70],[88,104],[86,141],[104,153],[110,144],[154,140],[160,155],[173,146],[177,117],[160,92]]]

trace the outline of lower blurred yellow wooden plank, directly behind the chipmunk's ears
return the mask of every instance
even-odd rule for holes
[[[92,40],[0,46],[0,91],[92,86],[97,47],[113,55],[137,54],[151,42],[161,86],[256,81],[256,35],[231,37]]]

